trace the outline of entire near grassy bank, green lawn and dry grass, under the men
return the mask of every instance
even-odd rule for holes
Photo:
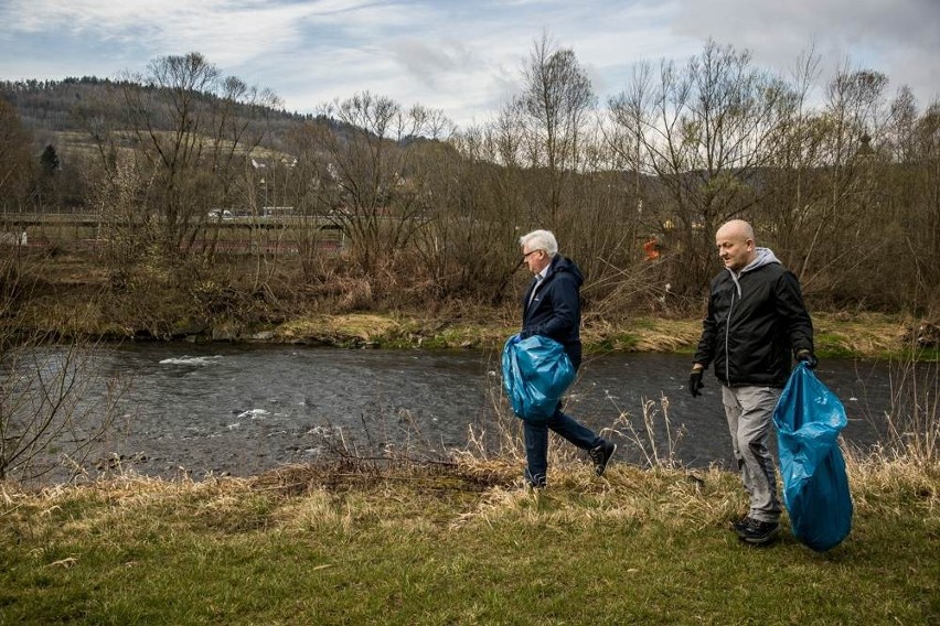
[[[2,624],[936,624],[940,472],[850,462],[826,553],[727,530],[736,476],[337,461],[4,493]]]

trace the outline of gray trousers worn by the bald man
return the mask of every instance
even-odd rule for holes
[[[782,389],[722,386],[722,401],[741,482],[750,496],[748,516],[760,521],[780,519],[777,473],[770,451],[773,408]],[[776,446],[775,446],[776,449]]]

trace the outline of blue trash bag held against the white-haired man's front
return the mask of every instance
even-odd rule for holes
[[[565,348],[555,339],[513,335],[503,347],[503,388],[513,412],[526,421],[544,422],[575,379]]]

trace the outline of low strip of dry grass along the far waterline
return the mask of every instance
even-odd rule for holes
[[[165,307],[165,306],[164,306]],[[194,322],[184,310],[158,323],[105,320],[92,304],[61,303],[54,311],[31,313],[21,328],[49,330],[64,336],[106,341],[186,339],[195,342],[279,342],[339,347],[500,348],[519,332],[517,311],[476,309],[436,312],[299,313],[277,322],[231,320]],[[813,313],[818,352],[822,357],[890,358],[909,350],[914,322],[877,313]],[[610,350],[692,353],[702,320],[635,315],[618,321],[586,316],[581,339],[588,353]],[[937,358],[937,348],[920,358]]]

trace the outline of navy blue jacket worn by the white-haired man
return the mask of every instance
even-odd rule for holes
[[[522,300],[522,332],[524,339],[544,335],[562,344],[577,369],[581,364],[581,296],[585,278],[570,259],[555,255],[542,284],[536,289],[533,278]],[[532,290],[535,296],[532,303]]]

